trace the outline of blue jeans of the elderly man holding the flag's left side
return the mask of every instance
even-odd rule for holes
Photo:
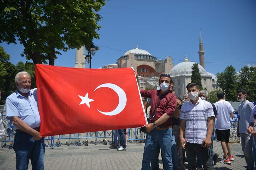
[[[44,137],[35,141],[32,135],[16,131],[13,150],[16,153],[17,170],[27,170],[29,159],[31,160],[32,170],[44,169]]]

